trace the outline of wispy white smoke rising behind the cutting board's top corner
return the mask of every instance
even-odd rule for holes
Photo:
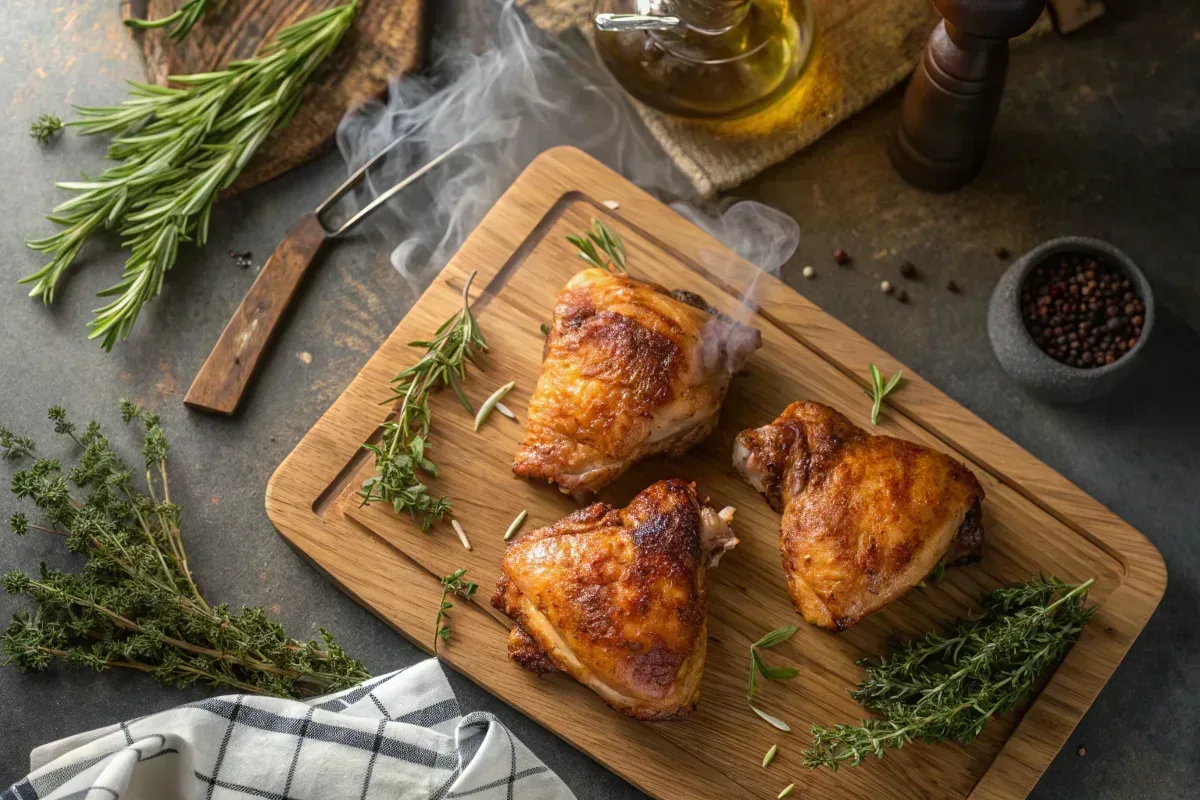
[[[529,162],[550,148],[574,145],[661,199],[694,196],[623,90],[582,37],[576,38],[575,44],[551,40],[512,0],[503,0],[486,50],[472,53],[463,41],[436,43],[432,78],[394,80],[386,102],[342,120],[337,144],[350,170],[406,137],[372,168],[366,181],[371,196],[468,139],[372,219],[389,240],[400,236],[391,261],[414,293],[432,281]],[[796,249],[796,223],[761,204],[740,203],[716,216],[686,203],[674,207],[762,269],[778,273]],[[791,234],[779,234],[782,221],[791,224]],[[751,300],[749,291],[745,299]]]

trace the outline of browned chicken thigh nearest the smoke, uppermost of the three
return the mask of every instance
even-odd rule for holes
[[[580,272],[558,295],[512,471],[582,499],[641,458],[682,455],[760,344],[698,295]]]

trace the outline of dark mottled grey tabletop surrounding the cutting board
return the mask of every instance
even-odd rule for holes
[[[437,13],[461,24],[462,8],[474,1],[439,2]],[[890,172],[883,142],[895,120],[893,94],[738,192],[799,221],[804,237],[785,267],[788,283],[1079,483],[1166,558],[1170,585],[1158,613],[1038,784],[1039,800],[1174,799],[1194,794],[1200,778],[1200,8],[1108,5],[1106,19],[1069,42],[1044,40],[1014,54],[992,158],[965,191],[925,196]],[[223,204],[209,248],[185,248],[164,295],[109,355],[84,341],[83,324],[97,305],[95,291],[118,278],[113,242],[89,248],[88,269],[65,283],[49,311],[12,284],[40,264],[22,239],[48,230],[40,213],[61,197],[50,182],[97,170],[103,150],[74,137],[40,149],[28,138],[29,121],[62,113],[66,102],[114,102],[118,82],[138,76],[115,2],[5,2],[0,420],[48,443],[43,413],[53,403],[115,423],[119,397],[142,401],[173,434],[185,536],[210,597],[263,604],[299,636],[324,625],[374,672],[412,663],[422,655],[310,569],[263,510],[275,465],[412,300],[388,248],[358,241],[331,251],[239,419],[197,416],[181,403],[253,278],[227,252],[248,248],[260,261],[337,184],[336,157]],[[1127,251],[1156,281],[1160,300],[1144,378],[1070,409],[1022,393],[995,362],[985,326],[988,294],[1007,266],[994,249],[1016,254],[1063,234],[1099,236]],[[853,264],[834,265],[835,247]],[[878,291],[882,277],[899,281],[905,259],[924,276],[902,284],[907,306]],[[817,270],[812,281],[800,277],[805,264]],[[947,294],[947,278],[964,293]],[[0,498],[0,516],[13,510],[11,498]],[[40,560],[71,564],[56,541],[0,535],[0,567],[32,570]],[[0,600],[0,614],[18,604]],[[641,796],[469,681],[451,681],[464,709],[498,714],[580,798]],[[0,669],[0,786],[23,774],[40,742],[205,693],[160,688],[143,675]],[[1084,758],[1079,745],[1087,747]]]

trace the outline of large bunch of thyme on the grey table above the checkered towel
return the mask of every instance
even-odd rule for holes
[[[13,475],[12,491],[41,510],[47,527],[13,515],[14,533],[61,536],[86,559],[78,573],[42,566],[37,577],[4,576],[11,594],[37,601],[4,633],[6,663],[44,669],[55,658],[104,670],[126,667],[164,685],[206,682],[240,692],[306,697],[370,678],[324,630],[324,642],[298,642],[260,608],[232,612],[200,594],[187,563],[170,499],[167,438],[155,415],[121,402],[121,416],[144,426],[145,492],[95,422],[79,433],[61,408],[50,409],[58,433],[83,452],[64,469],[35,458],[34,443],[0,428],[0,455],[32,459]],[[157,483],[157,489],[155,488]]]

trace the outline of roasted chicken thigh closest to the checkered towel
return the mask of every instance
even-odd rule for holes
[[[634,718],[685,717],[704,672],[707,572],[738,543],[732,519],[670,480],[515,541],[492,597],[516,622],[509,657],[562,669]]]

